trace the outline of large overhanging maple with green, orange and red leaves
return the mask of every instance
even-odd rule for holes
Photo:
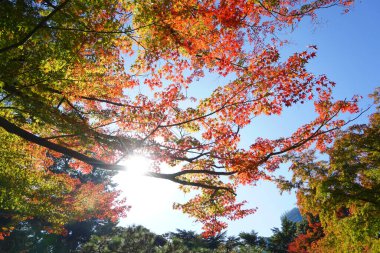
[[[46,150],[74,158],[71,166],[82,172],[124,170],[118,161],[143,152],[155,161],[150,176],[199,190],[176,207],[202,222],[204,235],[214,234],[226,227],[220,218],[254,212],[236,202],[239,185],[270,179],[267,172],[289,151],[325,149],[346,124],[337,116],[358,111],[355,98],[334,101],[334,83],[306,70],[316,47],[282,60],[283,41],[276,38],[304,17],[316,18],[320,8],[351,3],[5,1],[1,133],[22,138],[13,147],[31,145],[22,152],[36,158],[27,172],[36,175],[45,166],[39,161],[49,160]],[[208,73],[226,77],[225,83],[206,98],[187,96]],[[254,117],[309,100],[317,117],[289,137],[238,146],[240,129]],[[162,163],[182,170],[161,173]],[[101,194],[97,187],[81,189]]]

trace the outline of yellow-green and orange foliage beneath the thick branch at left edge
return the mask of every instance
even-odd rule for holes
[[[31,218],[47,222],[47,231],[65,233],[63,225],[68,222],[91,217],[116,220],[124,213],[124,207],[113,207],[118,193],[107,191],[104,184],[81,184],[67,174],[55,174],[46,169],[51,160],[39,157],[45,150],[4,131],[0,139],[0,206],[1,216],[8,220],[1,238]],[[31,150],[36,156],[30,156]]]

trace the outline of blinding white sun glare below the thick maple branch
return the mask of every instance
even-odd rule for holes
[[[113,178],[117,189],[126,197],[127,204],[132,208],[127,218],[121,220],[121,226],[132,224],[155,227],[156,232],[164,233],[175,230],[178,225],[199,229],[198,224],[180,212],[174,212],[173,202],[183,202],[186,197],[178,190],[178,185],[163,179],[145,176],[145,172],[152,168],[153,161],[144,155],[132,155],[123,160],[121,165],[126,167]],[[180,167],[170,167],[167,164],[160,166],[163,172],[178,171]],[[170,213],[170,216],[166,215]],[[157,217],[161,217],[157,219]],[[162,224],[166,226],[162,226]],[[159,230],[158,228],[161,228]]]

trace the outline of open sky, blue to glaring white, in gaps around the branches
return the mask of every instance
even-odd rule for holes
[[[319,12],[318,23],[304,20],[292,33],[282,33],[290,44],[282,49],[284,57],[308,45],[317,45],[317,57],[308,65],[315,74],[326,74],[337,83],[334,97],[351,98],[362,95],[361,107],[371,103],[367,95],[380,86],[380,1],[357,1],[350,13],[342,15],[338,8]],[[210,77],[214,80],[214,77]],[[206,79],[207,80],[207,79]],[[204,83],[196,84],[203,92]],[[202,88],[203,87],[203,88]],[[366,122],[368,113],[358,122]],[[297,105],[286,110],[281,117],[259,118],[254,126],[242,132],[242,146],[252,143],[257,136],[287,136],[303,123],[313,119],[311,106]],[[288,173],[281,169],[279,173]],[[183,202],[184,195],[171,182],[159,179],[132,177],[120,179],[128,203],[132,205],[129,216],[121,225],[139,224],[156,233],[176,228],[196,230],[200,225],[179,211],[171,209],[175,201]],[[149,188],[147,190],[147,185]],[[280,216],[296,206],[294,194],[279,194],[277,188],[267,182],[256,187],[238,190],[240,199],[248,200],[249,206],[258,207],[255,214],[243,220],[229,223],[228,234],[236,235],[254,229],[261,236],[270,236],[271,228],[280,226]]]

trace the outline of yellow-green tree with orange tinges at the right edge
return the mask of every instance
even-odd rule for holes
[[[310,237],[323,228],[324,237],[307,244],[310,252],[376,252],[380,249],[380,113],[368,124],[340,132],[326,151],[329,161],[315,161],[308,152],[293,159],[291,182],[283,189],[297,190],[302,212],[319,215],[309,225]],[[317,236],[317,238],[320,236]],[[301,238],[302,239],[302,238]],[[305,241],[305,239],[299,241]],[[306,240],[306,241],[307,241]],[[314,239],[312,239],[314,241]]]

